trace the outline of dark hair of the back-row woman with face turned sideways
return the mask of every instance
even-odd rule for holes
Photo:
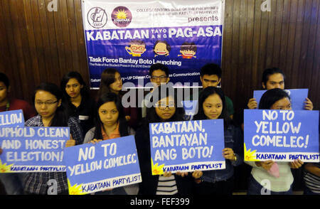
[[[101,95],[111,92],[110,85],[114,83],[116,73],[119,73],[119,71],[115,68],[107,68],[103,70],[103,72],[101,73],[101,81],[100,81],[100,87],[98,91],[98,97],[101,97]]]

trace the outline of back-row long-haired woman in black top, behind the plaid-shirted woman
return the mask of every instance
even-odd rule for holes
[[[70,117],[79,119],[83,135],[94,126],[95,100],[90,97],[89,90],[78,72],[69,72],[60,83],[63,92],[63,106]]]

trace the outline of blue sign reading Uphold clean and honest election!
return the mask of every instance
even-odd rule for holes
[[[1,127],[0,173],[63,172],[69,127]]]

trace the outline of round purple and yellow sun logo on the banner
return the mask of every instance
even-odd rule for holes
[[[132,14],[125,6],[118,6],[112,11],[111,19],[114,25],[124,28],[131,23]]]

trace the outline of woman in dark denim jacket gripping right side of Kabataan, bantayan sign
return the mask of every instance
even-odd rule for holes
[[[202,176],[195,179],[196,194],[210,195],[223,194],[231,195],[233,192],[233,166],[242,164],[243,157],[241,151],[242,134],[238,127],[235,127],[228,117],[225,104],[225,95],[217,87],[206,87],[199,95],[198,113],[194,120],[200,119],[223,119],[225,149],[221,154],[225,158],[225,169],[215,171],[195,171],[193,177]],[[200,174],[198,174],[200,173]]]

